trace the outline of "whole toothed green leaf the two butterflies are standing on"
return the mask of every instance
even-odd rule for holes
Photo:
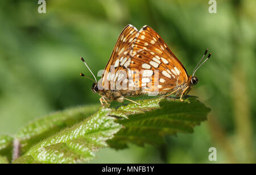
[[[19,132],[17,138],[26,153],[22,152],[14,163],[84,163],[108,145],[121,149],[128,143],[162,144],[165,135],[192,133],[210,111],[196,97],[184,102],[159,97],[137,102],[141,106],[113,102],[110,108],[101,107],[92,116],[98,105],[64,110],[36,120]]]

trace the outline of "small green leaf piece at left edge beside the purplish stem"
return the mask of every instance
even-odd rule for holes
[[[0,156],[2,156],[2,160],[6,159],[11,162],[13,153],[13,137],[9,135],[0,136]]]

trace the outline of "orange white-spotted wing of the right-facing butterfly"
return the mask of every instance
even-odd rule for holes
[[[164,43],[163,39],[149,26],[144,26],[137,34],[137,38],[133,43],[133,61],[130,69],[146,70],[149,78],[140,78],[138,86],[152,82],[145,90],[154,91],[155,74],[150,75],[158,70],[158,85],[156,85],[160,93],[168,93],[175,86],[181,85],[188,81],[188,74],[183,64],[177,59],[174,53]],[[143,74],[142,74],[143,76]]]

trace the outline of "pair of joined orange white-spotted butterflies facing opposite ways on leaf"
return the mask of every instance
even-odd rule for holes
[[[203,61],[208,49],[195,69],[192,76],[188,76],[183,64],[164,43],[163,39],[151,27],[143,26],[137,30],[128,24],[118,37],[112,55],[97,82],[85,60],[81,60],[93,74],[95,79],[92,91],[101,95],[100,102],[123,102],[126,97],[134,95],[166,95],[180,97],[187,95],[199,79],[195,72],[212,53]],[[202,62],[203,61],[203,62]],[[84,74],[80,74],[84,76]],[[140,105],[139,103],[137,103]]]

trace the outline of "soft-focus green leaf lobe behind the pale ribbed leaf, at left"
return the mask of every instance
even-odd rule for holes
[[[100,109],[100,105],[88,105],[85,107],[74,107],[61,112],[52,113],[44,118],[35,120],[23,127],[15,138],[19,139],[21,155],[28,151],[43,139],[56,134],[63,128],[71,127],[76,123],[88,118]]]

